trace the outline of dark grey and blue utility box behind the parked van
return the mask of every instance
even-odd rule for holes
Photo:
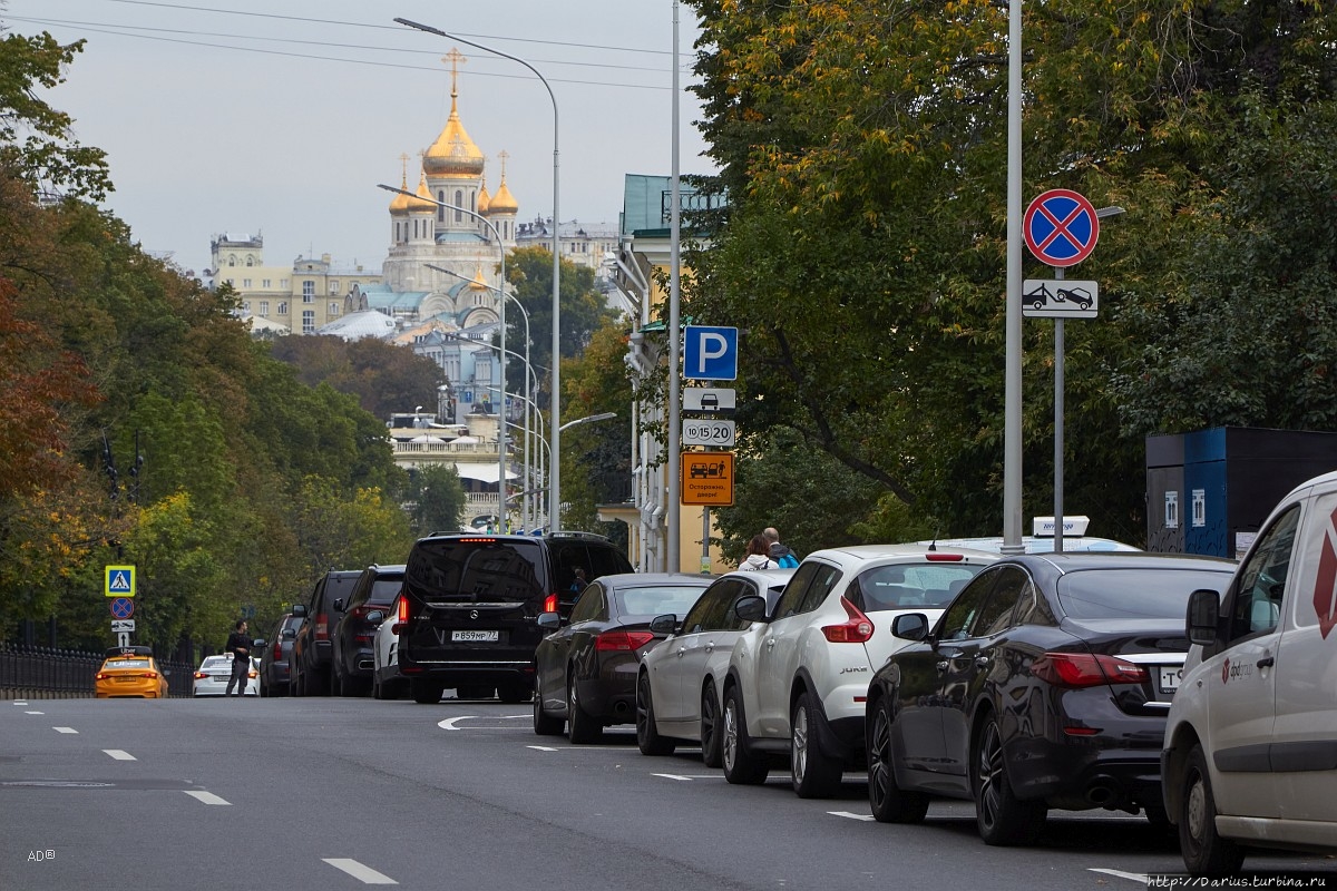
[[[1297,485],[1337,470],[1337,433],[1213,427],[1147,437],[1147,550],[1243,556]]]

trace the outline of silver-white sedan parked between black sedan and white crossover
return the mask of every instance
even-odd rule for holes
[[[670,755],[683,741],[701,741],[706,767],[719,767],[721,691],[734,643],[753,627],[734,612],[741,598],[763,597],[767,612],[794,569],[734,570],[713,581],[682,624],[655,617],[650,631],[667,635],[640,659],[636,676],[636,745],[642,755]]]

